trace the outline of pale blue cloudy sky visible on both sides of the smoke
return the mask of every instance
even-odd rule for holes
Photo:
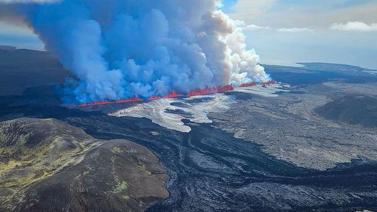
[[[377,0],[224,0],[262,64],[329,62],[377,69]],[[0,8],[1,12],[1,8]],[[22,23],[0,20],[0,45],[43,50]]]

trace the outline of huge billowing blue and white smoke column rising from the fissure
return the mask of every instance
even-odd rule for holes
[[[5,2],[16,2],[46,50],[75,74],[64,89],[69,102],[270,80],[220,0]]]

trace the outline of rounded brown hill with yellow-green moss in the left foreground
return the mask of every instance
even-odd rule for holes
[[[143,211],[168,196],[156,156],[55,119],[0,123],[0,211]]]

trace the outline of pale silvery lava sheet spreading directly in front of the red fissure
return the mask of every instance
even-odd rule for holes
[[[114,110],[109,115],[148,118],[164,128],[190,132],[190,126],[185,125],[182,122],[183,119],[188,119],[197,124],[212,123],[212,120],[207,117],[208,113],[226,113],[230,104],[237,104],[237,101],[234,101],[233,95],[231,95],[232,92],[277,97],[279,96],[276,94],[277,92],[288,92],[287,88],[289,88],[287,84],[276,83],[268,86],[256,85],[247,88],[235,88],[228,92],[230,95],[218,93],[186,98],[160,99]]]

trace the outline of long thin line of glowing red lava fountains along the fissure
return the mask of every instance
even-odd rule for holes
[[[276,81],[271,80],[265,83],[261,83],[261,85],[270,85],[270,84],[275,84]],[[255,86],[257,85],[256,82],[252,83],[245,83],[241,84],[239,87],[250,87],[250,86]],[[147,99],[141,99],[137,98],[136,96],[133,96],[130,99],[125,99],[125,100],[117,100],[117,101],[97,101],[93,103],[85,103],[85,104],[80,104],[77,105],[78,107],[87,107],[87,106],[96,106],[96,105],[102,105],[102,104],[118,104],[118,103],[129,103],[129,102],[137,102],[137,101],[144,101],[144,100],[158,100],[162,98],[177,98],[177,97],[192,97],[192,96],[198,96],[198,95],[205,95],[205,94],[215,94],[215,93],[222,93],[222,92],[227,92],[227,91],[233,91],[234,87],[232,85],[227,85],[224,87],[218,86],[218,87],[205,87],[205,89],[195,89],[191,90],[189,94],[187,95],[182,95],[178,94],[176,91],[172,91],[170,94],[164,96],[164,97],[149,97]]]

